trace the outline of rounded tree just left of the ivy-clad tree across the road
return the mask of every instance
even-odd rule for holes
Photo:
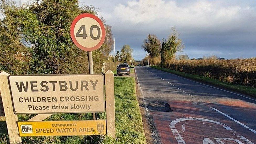
[[[144,51],[148,52],[150,56],[153,55],[154,50],[154,57],[160,55],[161,51],[161,41],[157,39],[157,37],[153,34],[149,34],[148,37],[144,40],[143,45],[141,46]]]

